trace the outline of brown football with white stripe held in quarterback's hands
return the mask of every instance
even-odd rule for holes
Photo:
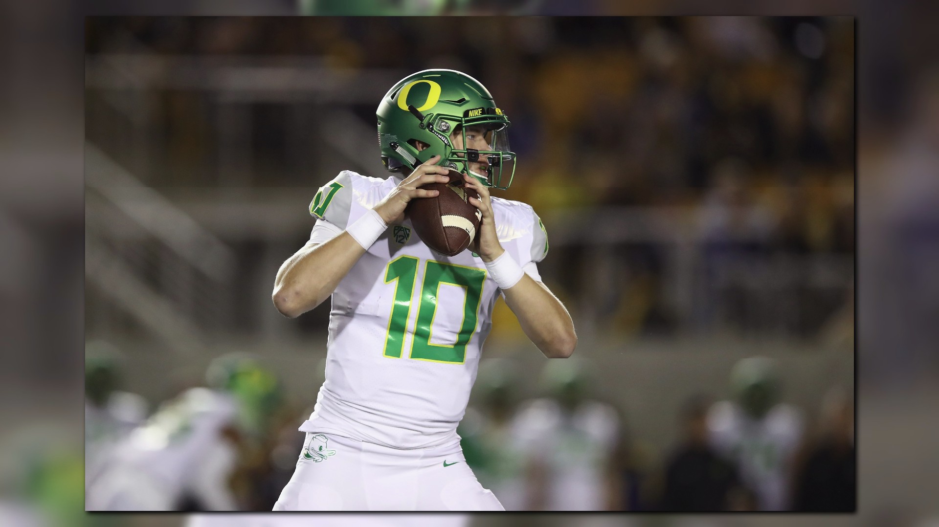
[[[422,189],[440,194],[412,199],[405,213],[428,247],[442,255],[456,256],[476,237],[482,215],[467,199],[470,195],[478,198],[479,194],[463,185],[463,175],[451,170],[448,176],[449,183],[422,185]]]

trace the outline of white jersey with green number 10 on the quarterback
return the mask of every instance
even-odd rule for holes
[[[341,172],[310,206],[311,240],[337,236],[398,182]],[[524,203],[493,197],[492,206],[502,247],[540,281],[541,220]],[[393,448],[456,444],[499,293],[469,249],[443,256],[409,219],[389,225],[332,293],[326,381],[300,430]]]

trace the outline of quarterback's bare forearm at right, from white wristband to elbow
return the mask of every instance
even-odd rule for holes
[[[524,275],[505,289],[505,303],[516,314],[522,331],[549,359],[567,358],[577,347],[574,321],[551,291]]]

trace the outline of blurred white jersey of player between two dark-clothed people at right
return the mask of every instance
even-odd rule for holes
[[[801,412],[786,404],[777,404],[762,419],[731,401],[716,402],[708,412],[712,446],[737,465],[760,510],[789,510],[789,474],[803,427]]]

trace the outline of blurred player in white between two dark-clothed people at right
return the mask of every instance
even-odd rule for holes
[[[737,465],[759,510],[789,510],[802,412],[779,402],[776,365],[764,357],[734,364],[731,390],[734,400],[716,402],[709,411],[711,444]]]

